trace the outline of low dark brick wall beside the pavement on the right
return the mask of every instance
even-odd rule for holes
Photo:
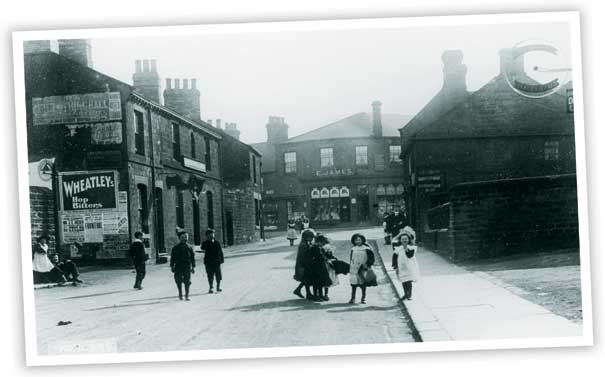
[[[451,203],[455,261],[579,246],[575,174],[460,184]]]

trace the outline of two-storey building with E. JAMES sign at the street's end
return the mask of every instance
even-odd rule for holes
[[[288,138],[284,118],[269,117],[263,155],[264,222],[285,229],[303,214],[312,227],[382,223],[394,205],[405,205],[398,128],[409,117],[351,115]]]

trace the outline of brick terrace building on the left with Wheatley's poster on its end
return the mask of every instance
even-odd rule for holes
[[[207,227],[223,237],[219,132],[71,57],[38,49],[24,59],[28,157],[55,158],[61,190],[52,205],[64,252],[123,259],[142,230],[155,259],[177,242],[177,227],[195,244]],[[137,62],[135,83],[146,74],[157,76],[155,63]],[[159,81],[145,89],[159,99]],[[30,190],[36,211],[38,191]]]

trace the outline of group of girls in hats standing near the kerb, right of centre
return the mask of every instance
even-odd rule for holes
[[[414,239],[414,231],[406,227],[392,243],[392,267],[402,283],[404,300],[412,299],[412,282],[420,278]],[[361,233],[353,234],[351,243],[349,263],[346,263],[334,256],[334,247],[325,235],[315,234],[312,229],[303,231],[294,268],[294,280],[299,285],[293,293],[309,301],[328,301],[329,288],[339,284],[338,275],[348,274],[351,284],[349,303],[355,303],[357,290],[360,289],[360,302],[365,304],[366,288],[377,285],[376,274],[372,270],[374,251]],[[306,296],[302,294],[303,288]]]

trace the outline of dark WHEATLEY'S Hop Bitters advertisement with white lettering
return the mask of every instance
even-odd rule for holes
[[[114,171],[59,174],[63,211],[112,209],[117,206]]]

